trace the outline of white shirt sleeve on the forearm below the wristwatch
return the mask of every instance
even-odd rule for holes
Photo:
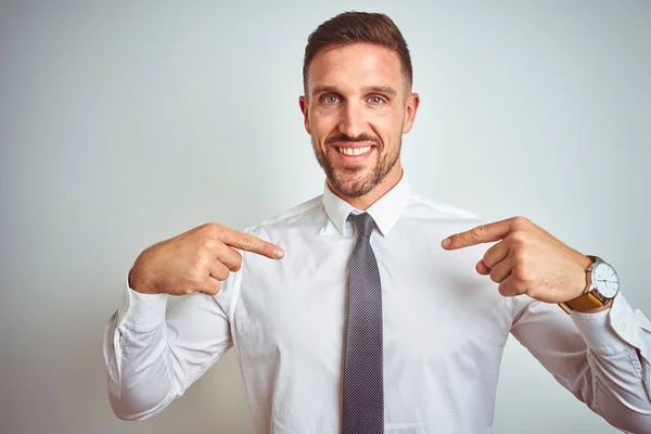
[[[651,433],[651,323],[622,294],[572,315],[519,296],[512,318],[513,336],[576,398],[620,430]]]

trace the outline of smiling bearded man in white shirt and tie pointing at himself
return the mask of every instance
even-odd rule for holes
[[[118,417],[162,411],[233,346],[260,433],[485,433],[512,333],[610,423],[651,432],[651,323],[614,269],[525,218],[482,225],[411,191],[411,81],[385,15],[310,35],[299,105],[323,195],[142,252],[106,329]]]

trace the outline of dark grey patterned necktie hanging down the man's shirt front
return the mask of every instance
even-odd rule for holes
[[[344,356],[342,433],[384,433],[382,372],[382,286],[371,248],[375,222],[367,213],[350,214],[357,243],[350,256],[348,317]]]

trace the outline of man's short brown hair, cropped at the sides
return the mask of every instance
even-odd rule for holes
[[[409,49],[398,26],[385,14],[344,12],[321,24],[307,38],[303,60],[303,86],[307,92],[307,71],[312,59],[323,48],[339,48],[355,42],[369,42],[394,51],[403,66],[405,84],[411,89],[413,73]]]

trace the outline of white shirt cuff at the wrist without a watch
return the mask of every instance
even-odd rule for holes
[[[125,301],[117,312],[117,327],[146,333],[165,322],[167,294],[141,294],[129,288],[127,273]]]

